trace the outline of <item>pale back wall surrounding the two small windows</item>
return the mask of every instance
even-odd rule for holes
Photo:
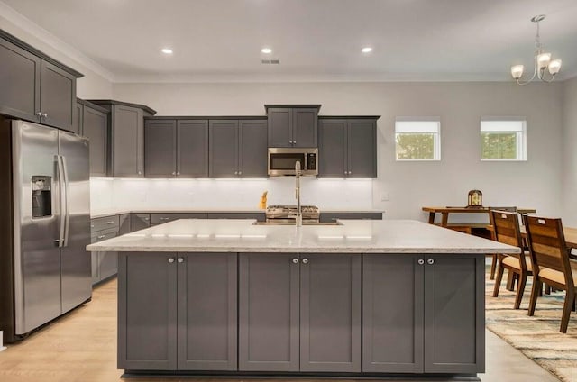
[[[325,115],[381,115],[378,179],[371,181],[371,196],[368,192],[359,196],[362,205],[384,209],[388,218],[425,220],[421,206],[466,205],[467,192],[473,188],[483,192],[484,205],[535,207],[553,215],[562,211],[563,84],[114,84],[113,96],[149,105],[159,115],[263,115],[264,104],[322,104],[320,114]],[[440,162],[394,160],[398,115],[441,117]],[[482,115],[527,117],[527,161],[481,162]],[[339,188],[345,182],[337,181],[334,189],[317,197],[349,208]],[[220,184],[211,185],[216,195]],[[170,193],[167,189],[165,195]],[[381,201],[382,194],[389,194],[389,201]],[[239,207],[253,206],[255,199],[251,196]]]

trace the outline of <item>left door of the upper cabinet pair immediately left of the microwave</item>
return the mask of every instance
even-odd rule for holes
[[[238,121],[209,122],[209,177],[238,177]]]

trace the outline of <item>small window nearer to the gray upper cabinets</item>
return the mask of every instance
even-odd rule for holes
[[[438,117],[398,117],[395,121],[397,160],[441,160]]]

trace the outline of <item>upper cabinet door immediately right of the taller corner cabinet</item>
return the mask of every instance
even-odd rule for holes
[[[144,175],[177,175],[176,120],[148,120],[144,123]]]

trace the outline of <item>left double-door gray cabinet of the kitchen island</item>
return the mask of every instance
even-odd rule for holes
[[[236,370],[236,262],[235,253],[121,252],[118,368]]]

